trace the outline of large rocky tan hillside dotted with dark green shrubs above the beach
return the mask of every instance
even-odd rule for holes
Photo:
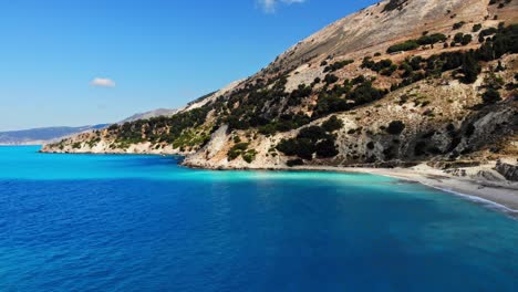
[[[183,154],[206,168],[516,165],[517,20],[517,1],[382,1],[169,117],[43,152]]]

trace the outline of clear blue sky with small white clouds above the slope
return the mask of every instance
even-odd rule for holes
[[[0,131],[180,107],[375,2],[0,1]]]

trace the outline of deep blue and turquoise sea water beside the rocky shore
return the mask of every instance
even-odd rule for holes
[[[0,147],[0,291],[518,291],[518,221],[421,185]]]

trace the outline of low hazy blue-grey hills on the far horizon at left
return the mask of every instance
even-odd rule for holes
[[[38,145],[50,143],[70,135],[101,129],[110,124],[82,127],[43,127],[22,131],[0,132],[0,145]]]

